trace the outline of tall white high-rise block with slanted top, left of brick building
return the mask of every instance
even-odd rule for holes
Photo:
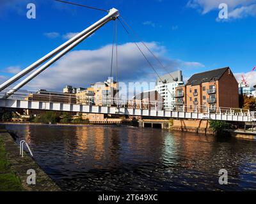
[[[156,91],[164,99],[164,109],[172,110],[175,105],[175,89],[184,85],[182,78],[182,71],[175,71],[173,73],[157,78]]]

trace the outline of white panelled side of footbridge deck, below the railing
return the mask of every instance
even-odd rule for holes
[[[143,110],[136,108],[117,108],[109,106],[76,105],[65,103],[52,103],[41,101],[26,101],[19,99],[0,99],[0,107],[22,108],[31,110],[52,110],[61,112],[80,112],[80,113],[101,113],[113,115],[131,115],[144,117],[161,117],[173,119],[205,119],[205,120],[226,120],[237,122],[252,122],[251,115],[246,113],[226,114],[226,113],[196,113],[196,112],[177,112],[170,110]]]

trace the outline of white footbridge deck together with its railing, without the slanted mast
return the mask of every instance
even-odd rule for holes
[[[51,110],[60,112],[79,112],[79,113],[99,113],[112,115],[130,115],[141,117],[173,118],[173,119],[205,119],[205,120],[226,120],[237,122],[256,121],[256,113],[239,108],[209,108],[198,107],[189,109],[186,105],[173,105],[172,108],[164,110],[162,102],[158,101],[139,101],[117,98],[104,98],[99,101],[78,99],[76,96],[56,94],[47,92],[36,94],[42,101],[35,101],[31,93],[16,92],[9,98],[3,96],[7,92],[0,92],[1,108],[19,108],[28,110]],[[35,94],[35,93],[34,93]],[[56,102],[65,101],[65,103]]]

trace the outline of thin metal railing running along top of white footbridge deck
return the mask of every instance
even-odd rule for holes
[[[0,98],[6,98],[10,90],[0,92]],[[95,105],[95,106],[116,106],[120,108],[136,108],[142,110],[170,110],[176,112],[193,112],[193,113],[216,113],[221,115],[241,115],[249,116],[256,119],[255,112],[252,113],[247,109],[225,108],[225,107],[207,107],[200,105],[184,105],[179,103],[166,103],[162,101],[150,101],[149,99],[127,99],[102,97],[95,98],[88,92],[84,94],[67,94],[60,92],[47,92],[44,90],[38,92],[17,91],[9,97],[10,99],[19,99],[26,101],[41,101],[51,103],[67,103],[78,105]]]

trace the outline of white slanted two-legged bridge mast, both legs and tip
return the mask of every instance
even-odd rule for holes
[[[15,85],[15,87],[13,87],[10,91],[7,92],[5,98],[8,98],[8,97],[12,96],[12,94],[14,92],[18,91],[21,87],[28,84],[28,82],[30,82],[33,78],[35,78],[37,75],[42,73],[42,71],[44,71],[45,69],[49,68],[49,66],[51,66],[54,62],[58,61],[58,59],[63,57],[63,55],[67,54],[70,50],[72,50],[74,47],[79,45],[79,43],[81,43],[86,38],[88,38],[93,33],[95,33],[95,31],[100,29],[100,27],[107,24],[111,20],[116,20],[116,18],[118,18],[119,15],[120,15],[119,11],[116,10],[115,8],[112,8],[111,10],[109,10],[108,15],[101,18],[99,21],[95,22],[95,24],[86,28],[81,33],[77,34],[76,36],[74,36],[73,38],[68,40],[67,42],[60,45],[60,47],[56,48],[55,50],[52,50],[52,52],[50,52],[49,54],[45,55],[44,57],[42,57],[38,61],[31,64],[30,66],[28,66],[28,68],[23,69],[22,71],[20,71],[20,73],[17,73],[17,75],[13,76],[9,80],[7,80],[3,84],[1,84],[0,85],[0,92],[3,91],[4,89],[6,89],[6,87],[9,87],[13,83],[17,82],[20,78],[24,77],[29,72],[33,71],[35,68],[37,68],[38,66],[40,66],[41,64],[43,64],[47,60],[52,58],[51,60],[46,62],[43,66],[38,68],[35,72],[33,72],[31,75],[29,75],[27,78],[22,80],[22,82]]]

